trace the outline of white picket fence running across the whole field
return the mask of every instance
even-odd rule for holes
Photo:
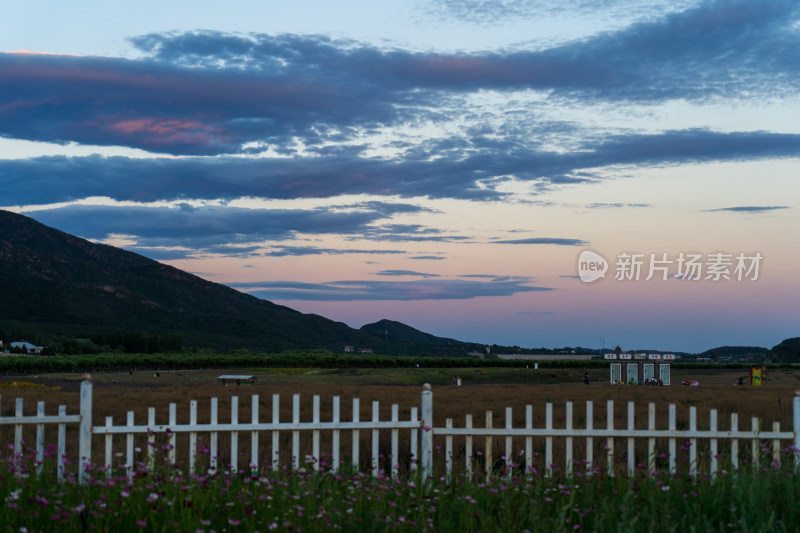
[[[1,404],[0,404],[1,405]],[[454,438],[463,438],[463,456],[465,458],[464,470],[466,472],[473,472],[475,457],[473,456],[473,448],[476,438],[483,438],[483,462],[487,478],[492,475],[492,466],[495,464],[493,457],[494,438],[505,439],[505,453],[500,457],[503,464],[510,467],[522,467],[522,464],[515,465],[513,459],[520,457],[522,451],[517,454],[513,450],[513,440],[524,439],[524,467],[527,473],[533,472],[534,456],[538,453],[533,450],[534,439],[544,440],[544,475],[552,475],[556,465],[553,464],[554,457],[554,440],[558,439],[559,442],[563,441],[564,450],[564,469],[563,472],[570,476],[575,474],[575,466],[580,465],[585,467],[586,473],[591,474],[595,465],[595,442],[594,439],[605,439],[605,451],[607,457],[605,458],[606,468],[609,475],[614,475],[615,464],[615,450],[617,440],[625,441],[627,447],[623,450],[623,455],[627,457],[627,472],[633,475],[637,468],[636,456],[636,440],[646,439],[647,451],[644,454],[644,462],[647,464],[648,471],[656,470],[656,442],[668,443],[669,453],[667,454],[668,469],[670,472],[676,472],[678,457],[678,443],[683,445],[688,443],[688,466],[691,474],[697,473],[697,443],[698,439],[705,439],[708,442],[709,451],[709,468],[711,474],[718,471],[718,451],[720,449],[720,441],[730,441],[725,449],[729,452],[730,465],[732,468],[739,467],[739,450],[740,441],[750,442],[750,453],[752,461],[755,464],[759,463],[759,455],[765,447],[764,442],[771,442],[771,446],[767,447],[771,450],[772,460],[779,462],[781,460],[781,452],[787,449],[791,452],[792,460],[794,463],[795,472],[800,472],[800,396],[793,399],[793,430],[781,431],[780,423],[774,422],[771,431],[764,431],[761,428],[760,421],[754,417],[750,423],[750,429],[739,428],[739,417],[736,413],[731,414],[731,421],[728,430],[718,430],[718,420],[716,409],[709,411],[708,429],[698,429],[697,411],[695,407],[690,407],[689,410],[689,427],[688,429],[677,428],[677,416],[675,405],[670,404],[668,407],[669,423],[667,428],[656,428],[656,405],[650,403],[648,405],[648,420],[647,428],[636,428],[635,418],[635,404],[628,402],[627,405],[627,427],[616,428],[614,426],[614,402],[609,400],[606,404],[607,424],[606,428],[594,428],[594,406],[591,401],[586,402],[586,423],[583,428],[576,428],[573,424],[573,403],[566,402],[565,404],[565,419],[563,427],[554,427],[553,423],[553,405],[551,403],[545,404],[545,427],[533,427],[533,406],[527,405],[525,410],[526,423],[525,427],[513,427],[513,413],[510,407],[505,411],[505,424],[504,427],[493,427],[492,411],[487,411],[485,415],[485,427],[473,427],[472,415],[466,415],[464,427],[454,427],[453,420],[447,419],[445,427],[434,427],[433,423],[433,393],[430,385],[425,385],[421,394],[420,410],[416,407],[410,409],[409,420],[403,421],[399,419],[398,405],[394,404],[391,408],[391,420],[380,420],[379,411],[380,405],[378,402],[372,402],[372,420],[360,420],[360,402],[358,398],[353,399],[352,420],[343,421],[340,415],[340,401],[339,397],[333,397],[332,412],[330,421],[322,421],[320,413],[320,400],[319,396],[313,397],[313,412],[312,420],[302,422],[300,420],[300,395],[293,395],[292,399],[292,420],[280,420],[280,395],[274,394],[272,396],[272,419],[269,422],[263,422],[259,416],[259,396],[253,395],[251,398],[251,419],[250,421],[239,420],[239,401],[238,397],[231,398],[231,416],[230,422],[220,423],[218,417],[218,401],[217,398],[211,399],[210,417],[206,423],[198,422],[197,420],[197,401],[193,400],[189,404],[189,423],[180,424],[177,422],[177,406],[174,403],[169,405],[169,421],[166,425],[156,424],[156,412],[154,408],[148,409],[148,420],[146,424],[136,424],[134,420],[133,411],[127,414],[127,420],[124,425],[114,425],[112,417],[106,417],[105,424],[92,425],[92,383],[84,381],[81,383],[80,389],[80,412],[79,414],[68,415],[66,414],[66,407],[59,406],[58,415],[45,415],[44,402],[38,402],[36,415],[24,415],[23,401],[21,398],[16,399],[15,413],[13,416],[0,416],[0,428],[3,426],[14,427],[14,442],[13,449],[15,451],[14,460],[19,459],[19,455],[23,450],[23,427],[25,425],[35,426],[35,453],[37,469],[41,471],[42,462],[45,456],[45,425],[57,424],[57,464],[58,464],[58,478],[62,479],[67,467],[68,461],[66,450],[66,427],[68,424],[78,425],[78,457],[80,458],[78,464],[78,479],[83,483],[89,477],[94,467],[100,466],[93,463],[93,450],[92,450],[92,435],[104,436],[104,467],[107,472],[111,471],[112,459],[115,457],[113,443],[115,435],[122,435],[125,437],[126,452],[125,452],[125,468],[132,472],[134,468],[135,452],[134,437],[136,435],[147,435],[147,462],[150,467],[154,465],[156,454],[156,438],[159,434],[164,434],[168,440],[169,445],[166,447],[168,459],[171,463],[176,461],[177,450],[177,436],[178,434],[188,434],[188,455],[189,455],[189,468],[191,471],[196,471],[198,468],[198,434],[208,435],[209,449],[207,450],[209,456],[208,472],[213,473],[218,468],[218,448],[220,434],[228,434],[230,438],[230,460],[225,465],[226,469],[232,472],[239,470],[239,436],[242,432],[250,433],[250,461],[248,468],[257,470],[259,468],[259,446],[260,436],[262,433],[270,433],[272,437],[271,447],[271,464],[272,467],[277,467],[280,463],[280,435],[284,432],[291,434],[291,467],[299,468],[303,461],[300,455],[300,434],[311,433],[311,455],[306,459],[310,460],[313,468],[320,468],[320,433],[331,432],[331,464],[330,468],[338,470],[342,465],[340,436],[342,431],[352,432],[351,441],[351,461],[355,469],[359,467],[360,456],[360,431],[371,432],[371,470],[373,475],[379,475],[381,472],[381,454],[380,454],[380,433],[381,431],[389,431],[390,436],[390,469],[389,476],[394,477],[397,475],[400,456],[399,450],[399,435],[401,430],[408,430],[410,434],[410,446],[408,464],[409,471],[416,472],[417,464],[419,464],[423,476],[428,476],[433,472],[434,466],[434,438],[443,437],[445,442],[444,449],[444,463],[446,475],[450,476],[454,471],[454,458],[456,455],[453,450]],[[421,411],[421,418],[418,417]],[[0,411],[2,412],[2,411]],[[284,433],[285,434],[285,433]],[[4,432],[0,432],[0,443],[3,442],[2,437]],[[585,459],[576,460],[573,456],[573,446],[576,439],[585,439]],[[788,447],[781,447],[781,442],[789,442]],[[601,441],[602,442],[602,441]],[[419,445],[419,447],[418,447]],[[460,445],[459,445],[460,446]],[[3,446],[5,449],[6,446]],[[419,454],[418,454],[419,450]],[[641,454],[640,454],[641,456]],[[521,462],[521,461],[520,461]],[[513,468],[506,468],[507,475],[511,475]]]

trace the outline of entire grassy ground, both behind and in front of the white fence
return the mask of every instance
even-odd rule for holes
[[[606,400],[615,402],[615,426],[626,424],[626,404],[636,402],[637,427],[646,425],[649,402],[657,405],[658,427],[665,427],[667,405],[678,410],[678,427],[687,427],[688,408],[696,406],[698,425],[708,425],[708,410],[719,411],[720,429],[725,429],[730,413],[740,416],[740,427],[749,428],[749,420],[757,416],[762,427],[779,421],[791,428],[792,398],[800,388],[800,371],[775,370],[768,374],[762,387],[737,386],[742,370],[673,370],[673,383],[683,379],[700,382],[699,387],[672,385],[665,387],[621,386],[607,383],[607,371],[590,370],[591,384],[583,384],[582,369],[248,369],[231,368],[214,371],[102,373],[92,376],[94,383],[94,423],[105,416],[116,423],[124,420],[129,410],[137,423],[146,420],[148,407],[157,410],[157,423],[166,423],[170,402],[178,404],[179,421],[188,421],[189,400],[199,401],[199,420],[208,420],[209,398],[219,398],[220,421],[228,418],[230,398],[239,397],[239,420],[249,420],[250,395],[258,394],[262,420],[271,413],[273,394],[281,396],[282,420],[291,419],[291,395],[301,395],[301,419],[311,419],[311,400],[318,394],[322,400],[323,420],[330,419],[330,399],[341,397],[342,419],[350,419],[350,400],[361,399],[361,419],[371,416],[371,401],[381,402],[381,418],[387,419],[392,403],[400,405],[401,418],[411,406],[418,406],[423,383],[433,385],[435,425],[444,425],[453,418],[463,426],[464,416],[472,414],[477,427],[483,425],[487,410],[496,426],[503,425],[505,407],[513,408],[514,425],[524,424],[524,406],[533,405],[534,427],[544,425],[546,402],[554,404],[556,427],[563,427],[564,403],[575,405],[575,427],[584,427],[584,402],[592,400],[595,427],[605,427]],[[253,374],[253,386],[223,386],[217,382],[221,374]],[[464,385],[452,386],[453,375],[460,375]],[[13,398],[25,401],[26,414],[35,412],[37,401],[46,401],[48,414],[59,404],[77,412],[81,376],[50,374],[5,378],[0,381],[3,416],[13,414]],[[288,432],[287,432],[288,433]],[[342,447],[348,449],[349,432],[343,432]],[[368,431],[362,450],[368,456]],[[0,432],[3,448],[12,431]],[[28,435],[26,433],[26,435]],[[282,434],[282,449],[289,449],[289,435]],[[27,437],[26,437],[27,438]],[[323,436],[324,439],[324,436]],[[122,437],[117,447],[124,447]],[[264,437],[264,440],[267,440]],[[502,455],[503,439],[495,438],[495,457]],[[601,439],[595,439],[600,441]],[[244,457],[248,456],[249,438],[240,439]],[[584,450],[576,439],[575,457]],[[52,434],[47,442],[53,442]],[[330,442],[323,440],[322,449]],[[137,454],[132,477],[117,470],[107,477],[96,473],[88,487],[72,483],[52,483],[50,478],[35,475],[17,478],[16,466],[6,455],[0,460],[0,514],[6,513],[3,531],[85,531],[87,529],[117,531],[796,531],[800,528],[800,478],[785,465],[770,463],[769,451],[761,452],[763,462],[754,468],[746,460],[738,473],[711,477],[707,462],[700,475],[672,476],[663,470],[649,473],[638,467],[633,478],[624,475],[606,477],[599,464],[591,477],[553,479],[529,477],[519,469],[512,477],[500,475],[491,482],[483,476],[471,477],[463,472],[447,481],[441,471],[443,444],[434,441],[440,466],[427,483],[413,478],[391,481],[373,479],[369,474],[311,475],[308,470],[292,473],[285,466],[251,475],[234,475],[221,470],[215,476],[186,476],[185,471],[168,467],[151,471],[144,464],[144,453]],[[602,446],[601,442],[595,443]],[[381,437],[385,450],[387,439]],[[483,439],[476,439],[474,453],[478,470]],[[305,445],[304,445],[305,446]],[[742,457],[749,456],[747,443]],[[95,443],[102,450],[102,442]],[[146,449],[144,442],[137,447]],[[522,442],[515,439],[515,451]],[[536,441],[535,449],[542,443]],[[663,443],[659,444],[659,449]],[[268,446],[264,444],[264,453]],[[407,445],[401,446],[407,453]],[[618,447],[616,471],[625,471],[624,446]],[[185,445],[179,442],[179,449]],[[180,451],[179,450],[179,451]],[[308,452],[307,447],[304,453]],[[7,452],[6,452],[7,453]],[[220,439],[220,457],[226,457],[225,439]],[[637,449],[637,454],[639,453]],[[683,451],[681,452],[684,453]],[[343,455],[344,452],[343,452]],[[463,446],[456,445],[456,463],[462,464]],[[724,468],[725,452],[720,463]],[[602,449],[595,455],[602,457]],[[704,456],[702,453],[700,457]],[[343,457],[344,459],[344,457]],[[364,459],[368,460],[367,457]],[[706,457],[707,459],[707,457]],[[179,461],[185,456],[179,453]],[[563,460],[556,447],[554,462]],[[680,459],[684,461],[685,457]],[[121,457],[114,463],[121,463]],[[245,462],[245,461],[243,461]],[[287,465],[288,458],[282,459]],[[262,463],[263,464],[263,463]],[[541,471],[541,457],[534,463]],[[363,466],[363,465],[362,465]],[[663,465],[660,466],[663,468]],[[122,472],[122,475],[120,475]],[[503,471],[496,471],[502,474]]]

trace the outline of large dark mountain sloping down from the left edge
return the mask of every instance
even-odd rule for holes
[[[44,339],[139,331],[180,335],[187,346],[263,351],[342,351],[382,340],[2,210],[0,294],[0,329]]]

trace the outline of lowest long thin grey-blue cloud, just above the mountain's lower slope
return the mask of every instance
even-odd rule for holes
[[[527,281],[530,281],[529,279]],[[520,292],[554,290],[526,285],[525,281],[472,280],[332,281],[301,283],[267,281],[229,283],[231,287],[267,300],[370,301],[370,300],[464,300],[484,296],[511,296]]]

